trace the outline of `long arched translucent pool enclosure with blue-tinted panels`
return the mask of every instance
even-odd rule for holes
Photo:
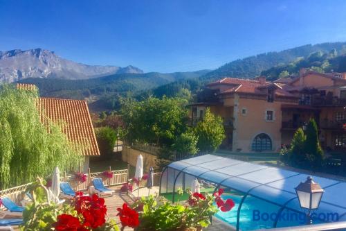
[[[238,191],[244,195],[237,209],[236,228],[239,230],[242,205],[248,196],[277,205],[279,207],[277,219],[284,209],[305,214],[295,194],[295,187],[308,176],[304,173],[218,155],[202,155],[167,165],[161,173],[160,194],[172,193],[174,203],[176,189],[187,189],[195,178],[212,183],[215,185],[215,191],[219,187]],[[320,207],[315,212],[336,213],[338,221],[346,221],[346,182],[312,177],[322,189],[325,189]],[[277,227],[277,219],[273,221],[273,228]]]

